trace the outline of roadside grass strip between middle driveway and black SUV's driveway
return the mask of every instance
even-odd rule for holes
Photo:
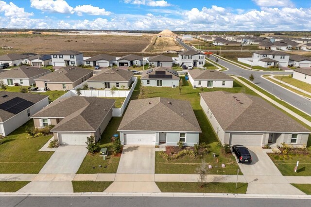
[[[201,192],[201,193],[246,193],[247,183],[207,183],[200,188],[199,183],[155,182],[161,192]]]

